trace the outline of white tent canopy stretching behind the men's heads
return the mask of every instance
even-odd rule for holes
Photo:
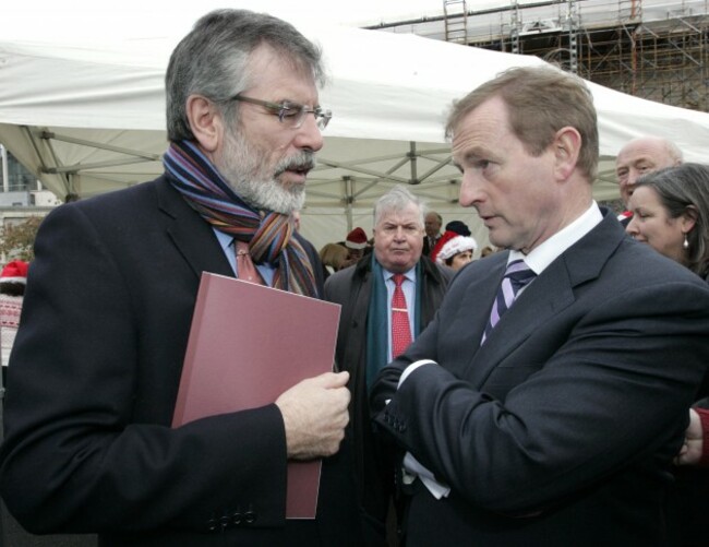
[[[12,19],[0,23],[9,28]],[[458,171],[443,123],[450,103],[515,66],[542,63],[413,35],[299,25],[324,49],[333,109],[320,165],[311,173],[302,230],[316,247],[352,226],[371,229],[373,201],[395,183],[479,242],[484,228],[457,205]],[[0,142],[57,195],[89,197],[161,173],[166,148],[164,73],[187,28],[144,38],[48,40],[31,28],[0,32]],[[687,160],[709,163],[709,115],[630,97],[594,84],[601,141],[597,199],[617,198],[612,160],[628,140],[666,136]]]

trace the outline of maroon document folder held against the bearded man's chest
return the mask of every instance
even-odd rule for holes
[[[333,369],[340,307],[203,273],[172,427],[271,404]],[[286,516],[314,519],[320,460],[288,462]]]

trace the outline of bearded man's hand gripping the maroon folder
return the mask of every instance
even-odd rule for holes
[[[348,372],[326,372],[303,380],[278,397],[289,459],[310,460],[339,450],[349,421],[348,380]]]

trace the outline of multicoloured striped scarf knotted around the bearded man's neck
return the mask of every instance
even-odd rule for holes
[[[216,229],[247,241],[256,264],[275,266],[273,286],[317,297],[313,267],[289,215],[254,211],[191,142],[171,143],[163,163],[172,186]]]

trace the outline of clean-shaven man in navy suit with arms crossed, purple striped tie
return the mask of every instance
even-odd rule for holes
[[[385,367],[372,406],[404,451],[408,546],[663,545],[686,407],[709,362],[709,289],[592,200],[584,82],[519,68],[446,132],[493,245]]]

